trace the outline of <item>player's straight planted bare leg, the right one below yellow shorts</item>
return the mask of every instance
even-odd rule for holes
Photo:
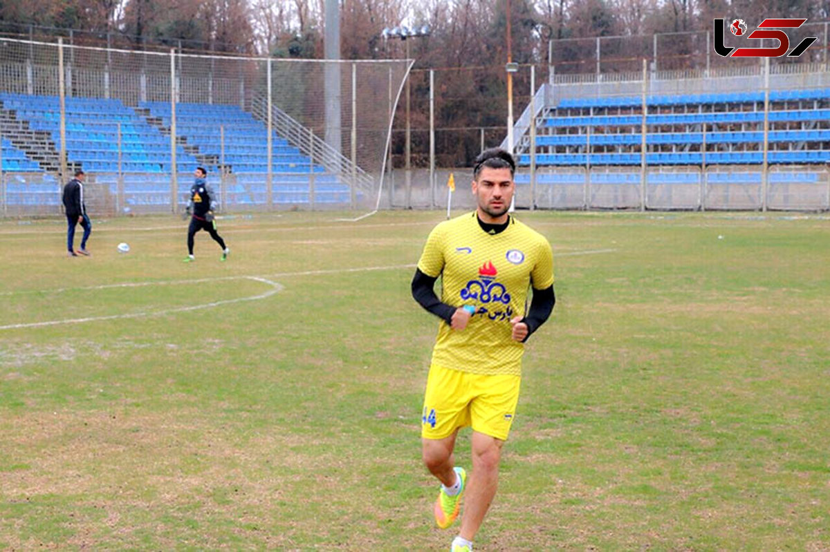
[[[466,540],[475,538],[496,496],[503,444],[504,441],[490,435],[472,433],[472,473],[467,483],[460,533]]]

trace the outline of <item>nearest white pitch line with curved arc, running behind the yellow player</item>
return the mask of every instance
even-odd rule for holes
[[[574,255],[588,255],[588,254],[603,254],[603,253],[613,253],[617,249],[586,249],[583,251],[571,251],[569,253],[560,253],[556,255],[557,257],[566,257],[566,256],[574,256]],[[198,305],[188,305],[187,307],[175,307],[175,308],[168,308],[160,311],[153,311],[153,312],[132,312],[129,314],[112,314],[109,316],[103,317],[85,317],[85,318],[68,318],[64,320],[50,320],[46,322],[26,322],[21,324],[7,324],[5,326],[0,326],[0,330],[16,330],[21,328],[27,327],[46,327],[46,326],[57,326],[60,324],[80,324],[83,322],[99,322],[102,320],[118,320],[123,318],[139,318],[139,317],[151,317],[151,316],[159,316],[162,314],[169,314],[171,312],[188,312],[188,311],[195,311],[201,308],[212,308],[218,307],[220,305],[227,305],[231,303],[242,303],[244,301],[256,301],[259,299],[265,299],[271,297],[271,295],[280,292],[284,289],[284,286],[281,283],[272,282],[268,278],[291,278],[292,276],[317,276],[323,274],[343,274],[343,273],[356,273],[356,272],[373,272],[377,270],[399,270],[399,269],[413,269],[417,266],[417,264],[390,264],[387,266],[365,266],[365,267],[358,267],[354,269],[320,269],[320,270],[302,270],[299,272],[282,272],[276,274],[268,274],[266,276],[223,276],[218,278],[198,278],[198,279],[189,279],[189,280],[168,280],[163,282],[127,282],[127,283],[108,283],[99,286],[87,286],[84,288],[58,288],[58,289],[51,289],[51,290],[36,290],[36,291],[19,291],[19,292],[3,292],[0,293],[2,295],[17,295],[22,293],[62,293],[70,290],[96,290],[96,289],[109,289],[109,288],[141,288],[146,286],[157,286],[157,285],[180,285],[180,284],[188,284],[188,283],[204,283],[204,282],[220,282],[223,280],[237,280],[237,279],[251,279],[256,280],[257,282],[266,283],[271,286],[271,289],[266,291],[266,293],[260,293],[259,295],[253,295],[251,297],[244,297],[244,298],[236,298],[236,299],[226,299],[224,301],[215,301],[212,303],[202,303]]]

